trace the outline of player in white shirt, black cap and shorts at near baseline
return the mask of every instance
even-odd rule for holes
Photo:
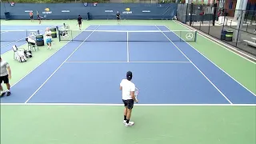
[[[122,79],[122,82],[120,83],[120,90],[122,90],[122,102],[125,105],[123,120],[125,126],[134,125],[134,122],[130,122],[130,115],[134,107],[134,101],[138,102],[138,100],[136,100],[134,96],[135,85],[133,82],[130,81],[132,77],[132,72],[128,71],[126,73],[126,79]]]

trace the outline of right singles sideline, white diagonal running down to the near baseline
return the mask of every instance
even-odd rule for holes
[[[156,26],[157,28],[158,28],[158,26]],[[159,28],[158,28],[158,30],[160,30]],[[162,33],[162,34],[164,34],[164,33]],[[165,36],[166,36],[166,34],[164,34]],[[182,52],[182,50],[180,50],[179,48],[178,48],[178,46],[176,46],[175,44],[174,44],[174,42],[172,42],[171,40],[170,40],[170,38],[168,38],[167,36],[166,36],[166,38],[192,63],[192,65],[210,82],[210,84],[212,85],[212,86],[214,86],[214,88],[216,89],[216,90],[218,90],[218,92],[220,93],[220,94],[222,94],[222,96],[224,97],[224,98],[226,98],[226,95],[225,94],[223,94],[222,93],[222,91],[221,90],[219,90],[218,89],[218,87],[217,86],[215,86],[214,85],[214,83],[213,82],[211,82],[210,81],[210,79],[209,78],[207,78],[206,77],[206,75],[205,74],[203,74],[202,73],[202,71],[198,68],[198,66],[196,66],[195,64],[194,64],[194,62],[192,62],[191,60],[190,60],[190,58],[188,58],[187,56],[186,56],[186,54],[184,54],[183,52]],[[226,100],[228,101],[228,102],[230,102],[230,104],[233,104],[231,101],[230,101],[230,99],[229,98],[226,98]]]

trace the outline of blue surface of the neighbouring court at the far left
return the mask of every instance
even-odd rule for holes
[[[26,44],[26,37],[30,32],[44,34],[46,27],[56,26],[1,26],[1,54],[12,49],[12,46],[22,46]]]

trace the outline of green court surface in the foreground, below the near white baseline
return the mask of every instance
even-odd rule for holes
[[[254,144],[254,106],[2,106],[1,143]]]

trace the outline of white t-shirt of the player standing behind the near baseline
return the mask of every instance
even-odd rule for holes
[[[122,86],[122,99],[123,100],[133,99],[130,95],[130,92],[135,91],[134,83],[128,81],[127,79],[122,79],[120,86]]]

